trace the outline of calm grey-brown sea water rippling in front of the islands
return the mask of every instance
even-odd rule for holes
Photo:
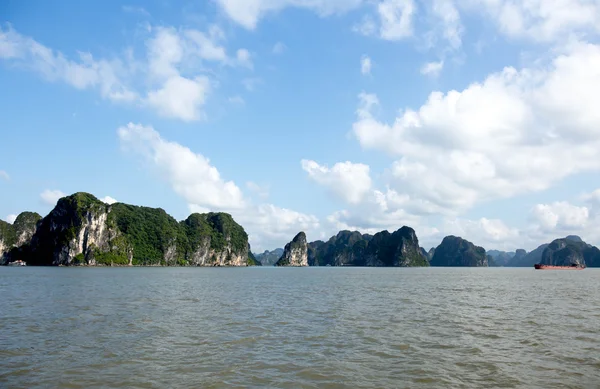
[[[1,388],[600,388],[600,271],[0,268]]]

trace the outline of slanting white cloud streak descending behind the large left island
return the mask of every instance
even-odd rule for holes
[[[300,230],[320,236],[315,216],[273,204],[254,204],[233,181],[221,177],[208,158],[163,139],[152,127],[129,123],[117,133],[124,151],[157,172],[192,212],[231,213],[248,232],[254,250],[280,247]]]

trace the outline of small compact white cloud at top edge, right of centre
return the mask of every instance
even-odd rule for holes
[[[399,40],[413,34],[413,16],[416,5],[413,0],[383,0],[377,6],[381,21],[379,35],[386,40]]]

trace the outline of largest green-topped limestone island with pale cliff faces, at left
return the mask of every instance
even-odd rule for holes
[[[108,205],[76,193],[60,199],[30,243],[9,257],[29,265],[246,266],[248,250],[248,235],[228,214],[193,214],[178,223],[160,208]]]

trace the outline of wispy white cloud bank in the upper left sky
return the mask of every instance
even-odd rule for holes
[[[206,63],[253,66],[246,49],[237,50],[232,58],[227,55],[222,44],[225,34],[216,25],[205,32],[154,27],[148,34],[144,61],[136,60],[130,49],[123,60],[95,59],[84,52],[72,60],[12,28],[0,28],[0,59],[31,69],[49,81],[96,89],[113,102],[137,102],[162,116],[183,121],[205,116],[202,108],[212,85]]]

